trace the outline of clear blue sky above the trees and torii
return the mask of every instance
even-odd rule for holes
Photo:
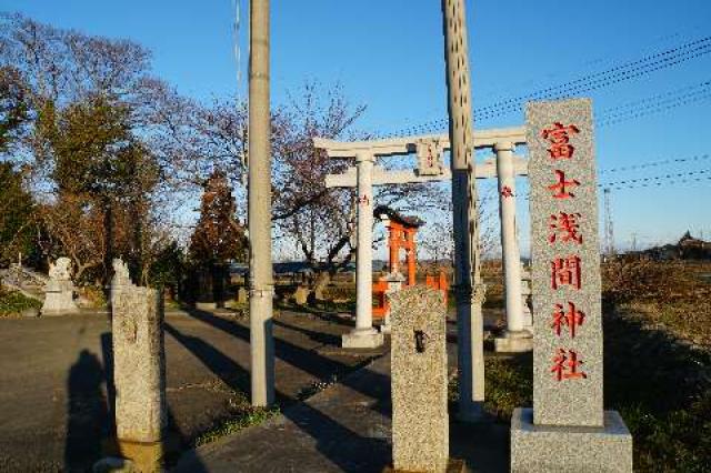
[[[392,132],[445,117],[443,39],[435,0],[272,1],[272,93],[283,102],[307,80],[340,82],[368,111],[359,127]],[[604,71],[711,36],[709,0],[537,2],[470,0],[475,107]],[[241,1],[241,67],[247,64],[248,4]],[[0,10],[92,34],[130,38],[153,51],[156,72],[209,100],[239,90],[233,0],[0,0]],[[711,80],[711,53],[591,93],[595,113]],[[600,169],[711,153],[711,99],[600,127]],[[475,127],[517,125],[522,112]],[[711,169],[711,159],[618,171],[604,181]],[[704,174],[700,174],[704,175]],[[709,175],[709,174],[705,174]],[[521,183],[523,184],[523,183]],[[484,185],[484,189],[487,184]],[[612,193],[617,245],[677,239],[687,229],[711,238],[711,180]],[[522,213],[527,202],[520,202]],[[528,225],[522,218],[521,227]],[[522,231],[523,245],[528,244]]]

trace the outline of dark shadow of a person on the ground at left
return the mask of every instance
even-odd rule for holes
[[[64,469],[90,471],[101,457],[102,440],[109,434],[107,400],[101,389],[104,372],[97,355],[82,350],[69,370]]]

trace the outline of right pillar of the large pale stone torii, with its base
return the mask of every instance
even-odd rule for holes
[[[503,260],[507,331],[494,340],[497,352],[527,352],[533,349],[531,333],[524,330],[521,304],[521,253],[515,222],[515,173],[510,142],[495,143],[499,177],[499,217],[501,221],[501,255]]]

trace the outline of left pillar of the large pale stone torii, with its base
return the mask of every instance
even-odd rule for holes
[[[373,329],[373,165],[370,153],[356,157],[358,168],[358,246],[356,254],[356,330],[343,334],[346,349],[375,348],[383,336]]]

